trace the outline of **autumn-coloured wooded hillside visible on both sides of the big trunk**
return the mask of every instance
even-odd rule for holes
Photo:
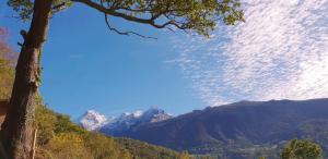
[[[0,123],[3,120],[14,78],[15,53],[5,44],[5,29],[0,27]],[[128,138],[107,137],[91,133],[70,121],[68,115],[48,109],[37,98],[36,159],[186,159],[179,154]]]

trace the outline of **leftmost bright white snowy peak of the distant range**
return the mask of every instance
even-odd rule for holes
[[[95,131],[101,126],[107,124],[108,120],[104,114],[95,110],[87,110],[80,119],[79,123],[87,131]]]

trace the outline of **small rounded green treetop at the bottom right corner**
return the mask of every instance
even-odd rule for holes
[[[319,145],[304,139],[291,140],[281,151],[281,159],[321,159],[323,149]]]

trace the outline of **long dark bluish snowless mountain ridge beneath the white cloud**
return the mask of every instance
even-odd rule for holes
[[[277,154],[284,140],[294,137],[316,139],[328,150],[328,99],[242,101],[143,124],[125,135],[176,150],[233,158]]]

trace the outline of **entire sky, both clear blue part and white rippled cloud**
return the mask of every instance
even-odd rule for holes
[[[73,119],[157,106],[180,114],[239,100],[328,97],[328,0],[243,0],[246,23],[211,38],[113,20],[143,39],[109,32],[104,16],[75,4],[56,14],[43,51],[40,93]],[[0,2],[9,42],[28,24]]]

